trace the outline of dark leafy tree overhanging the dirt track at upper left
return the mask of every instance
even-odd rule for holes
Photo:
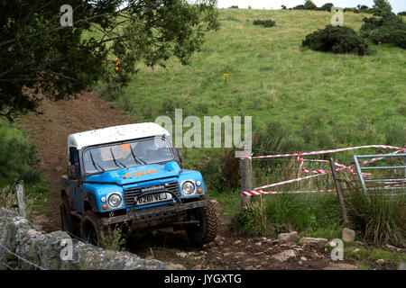
[[[65,27],[68,2],[73,25]],[[0,115],[13,120],[43,97],[66,99],[100,79],[126,85],[140,61],[188,64],[217,27],[216,0],[0,1]]]

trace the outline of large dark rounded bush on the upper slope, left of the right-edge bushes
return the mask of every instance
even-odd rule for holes
[[[302,46],[338,54],[368,55],[368,44],[352,28],[328,25],[306,36]]]

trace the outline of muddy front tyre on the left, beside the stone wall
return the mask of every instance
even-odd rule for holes
[[[86,211],[80,220],[80,238],[95,246],[100,246],[102,225],[94,211]]]

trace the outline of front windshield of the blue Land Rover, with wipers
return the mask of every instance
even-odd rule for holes
[[[152,138],[88,148],[83,154],[83,166],[86,174],[93,174],[172,159],[169,143],[163,138]]]

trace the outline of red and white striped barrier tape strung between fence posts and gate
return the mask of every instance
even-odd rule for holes
[[[327,175],[330,174],[331,171],[329,170],[307,170],[303,168],[303,163],[304,161],[311,161],[311,162],[328,162],[327,160],[321,160],[321,159],[304,159],[300,158],[300,156],[304,155],[318,155],[318,154],[328,154],[328,153],[337,153],[337,152],[342,152],[342,151],[347,151],[347,150],[354,150],[354,149],[359,149],[359,148],[390,148],[390,149],[397,149],[396,151],[393,151],[392,153],[389,154],[396,154],[401,151],[406,151],[406,147],[404,148],[399,148],[399,147],[394,147],[394,146],[387,146],[387,145],[367,145],[367,146],[358,146],[358,147],[351,147],[351,148],[337,148],[337,149],[329,149],[329,150],[321,150],[321,151],[312,151],[312,152],[303,152],[303,153],[291,153],[291,154],[277,154],[277,155],[267,155],[267,156],[258,156],[258,157],[242,157],[243,159],[254,159],[254,158],[270,158],[270,157],[292,157],[292,156],[298,156],[298,160],[300,161],[300,171],[304,173],[314,173],[314,175],[309,175],[309,176],[304,176],[296,179],[291,179],[291,180],[285,180],[281,181],[278,183],[273,183],[273,184],[267,184],[261,187],[254,188],[252,191],[243,191],[241,192],[245,196],[251,196],[251,195],[257,195],[257,194],[262,194],[262,193],[283,193],[283,192],[264,192],[263,189],[269,188],[269,187],[274,187],[274,186],[279,186],[283,184],[290,184],[294,182],[299,182],[301,180],[317,177],[319,175]],[[381,160],[383,157],[374,157],[369,160],[365,160],[363,162],[360,162],[359,165],[362,166],[364,164],[369,164],[373,163],[374,161]],[[339,168],[336,169],[336,171],[341,171],[341,170],[346,170],[351,174],[355,174],[356,171],[352,168],[355,167],[355,165],[352,166],[345,166],[343,164],[335,162],[336,166],[339,166]],[[369,175],[366,173],[363,173],[363,175]],[[328,190],[312,190],[312,191],[300,191],[300,192],[285,192],[285,193],[322,193],[322,192],[335,192],[335,189],[328,189]]]

